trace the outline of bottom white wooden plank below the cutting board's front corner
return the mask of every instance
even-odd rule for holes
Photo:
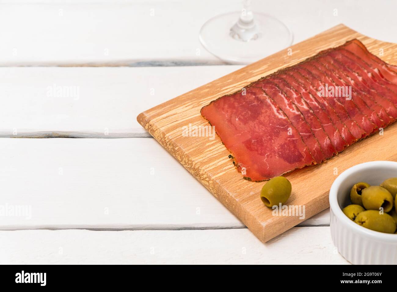
[[[266,244],[247,229],[0,232],[0,264],[348,264],[329,227],[295,227]]]

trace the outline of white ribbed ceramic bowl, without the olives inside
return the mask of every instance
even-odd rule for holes
[[[397,234],[367,229],[342,212],[342,208],[350,203],[350,190],[354,184],[379,185],[391,177],[397,177],[397,162],[372,161],[342,172],[331,186],[331,237],[338,252],[353,264],[397,264]]]

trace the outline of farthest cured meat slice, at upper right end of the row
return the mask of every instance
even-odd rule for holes
[[[382,59],[378,58],[374,54],[371,54],[367,48],[357,39],[353,39],[341,47],[349,50],[356,56],[360,57],[362,60],[367,62],[374,70],[379,72],[379,75],[387,79],[388,81],[397,84],[397,66],[387,64]]]

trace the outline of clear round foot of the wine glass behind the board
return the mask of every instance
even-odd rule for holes
[[[277,18],[254,13],[258,37],[242,41],[231,37],[230,29],[241,12],[229,12],[209,19],[200,29],[200,42],[214,56],[233,64],[250,64],[292,44],[293,34]]]

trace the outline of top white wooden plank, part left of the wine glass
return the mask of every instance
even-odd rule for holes
[[[207,17],[191,21],[192,15],[200,15],[191,13],[197,4],[158,0],[45,2],[2,5],[1,65],[125,66],[141,60],[222,63],[198,41],[200,24]],[[239,1],[233,2],[231,8],[239,9]],[[201,11],[205,10],[208,6],[202,7]]]

